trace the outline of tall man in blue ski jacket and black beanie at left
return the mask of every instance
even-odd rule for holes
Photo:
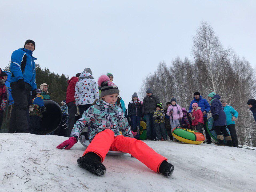
[[[9,133],[29,133],[28,103],[31,103],[30,91],[35,96],[37,85],[35,83],[35,62],[32,56],[35,42],[27,40],[24,48],[13,51],[11,54],[11,95],[14,107],[11,111]]]

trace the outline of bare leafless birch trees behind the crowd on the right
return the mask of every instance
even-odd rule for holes
[[[247,107],[248,99],[256,95],[255,69],[230,47],[225,49],[206,22],[201,23],[193,36],[191,53],[192,59],[176,57],[169,66],[160,62],[154,73],[143,79],[141,98],[150,87],[162,102],[174,96],[178,105],[188,110],[195,91],[206,99],[215,92],[239,113],[236,130],[240,144],[255,147],[256,126]]]

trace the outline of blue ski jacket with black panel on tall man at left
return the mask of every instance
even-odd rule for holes
[[[31,85],[31,90],[37,88],[35,83],[35,62],[37,58],[32,56],[31,50],[20,48],[11,54],[11,80],[10,83],[19,79]]]

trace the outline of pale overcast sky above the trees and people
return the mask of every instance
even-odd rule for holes
[[[256,65],[256,1],[9,0],[0,7],[2,69],[32,39],[43,68],[72,77],[90,67],[96,80],[113,73],[126,106],[160,61],[192,59],[192,35],[202,20],[224,47]]]

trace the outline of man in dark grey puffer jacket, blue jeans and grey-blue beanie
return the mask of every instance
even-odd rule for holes
[[[153,114],[155,112],[155,106],[160,103],[157,96],[153,95],[152,90],[149,88],[147,91],[147,96],[143,99],[142,113],[146,117],[147,123],[147,140],[156,141],[157,135],[154,128],[154,118]]]

